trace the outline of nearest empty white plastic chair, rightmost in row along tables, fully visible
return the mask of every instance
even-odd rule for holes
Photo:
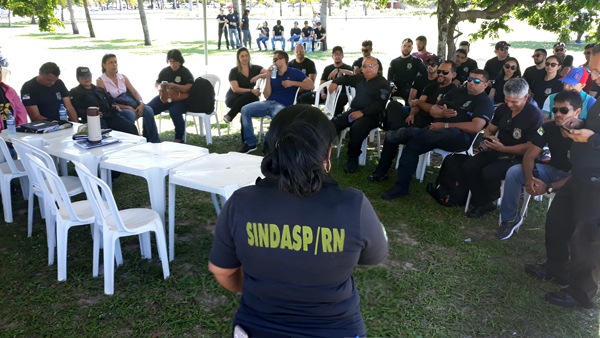
[[[114,293],[115,242],[121,237],[154,232],[158,256],[162,262],[163,276],[165,279],[169,277],[169,257],[167,256],[165,228],[160,215],[152,209],[145,208],[119,210],[108,185],[92,175],[81,163],[75,161],[73,163],[77,174],[81,178],[96,219],[96,226],[94,227],[94,277],[98,276],[100,234],[102,234],[104,240],[104,293],[107,295]],[[106,196],[106,201],[102,199],[100,190]],[[142,238],[143,236],[140,236],[140,240]],[[140,246],[143,245],[145,244],[140,243]],[[117,250],[119,250],[118,247]],[[122,263],[122,261],[117,262],[117,264],[119,263]]]

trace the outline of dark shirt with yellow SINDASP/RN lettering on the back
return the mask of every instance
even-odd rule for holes
[[[388,255],[362,192],[325,177],[320,191],[282,193],[276,178],[237,190],[217,220],[210,262],[242,266],[235,322],[293,337],[366,335],[352,271]]]

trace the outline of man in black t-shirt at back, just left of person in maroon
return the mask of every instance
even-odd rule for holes
[[[408,100],[410,95],[410,86],[415,81],[417,74],[426,74],[427,70],[421,59],[410,55],[412,52],[413,42],[411,39],[402,41],[402,55],[390,62],[388,69],[389,81],[394,82],[396,91],[392,96],[400,96],[404,100]]]

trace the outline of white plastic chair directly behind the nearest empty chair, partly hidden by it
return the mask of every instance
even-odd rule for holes
[[[48,207],[46,214],[48,233],[48,265],[53,263],[54,247],[58,252],[58,280],[67,280],[67,238],[69,228],[94,223],[94,212],[87,200],[71,202],[63,181],[52,170],[32,154],[29,158],[37,182]],[[52,259],[50,259],[52,257]]]

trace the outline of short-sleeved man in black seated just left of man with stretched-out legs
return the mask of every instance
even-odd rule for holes
[[[446,93],[456,88],[452,83],[452,79],[456,76],[456,65],[452,61],[445,61],[437,70],[437,81],[427,85],[423,90],[423,94],[418,100],[413,101],[410,107],[410,113],[394,101],[390,102],[386,109],[386,130],[397,130],[399,128],[424,128],[429,127],[433,122],[433,117],[430,114],[431,107],[436,102],[440,101]],[[377,169],[368,180],[371,182],[381,182],[389,178],[388,171],[390,170],[394,158],[398,154],[398,143],[388,142],[383,143],[381,158]]]

